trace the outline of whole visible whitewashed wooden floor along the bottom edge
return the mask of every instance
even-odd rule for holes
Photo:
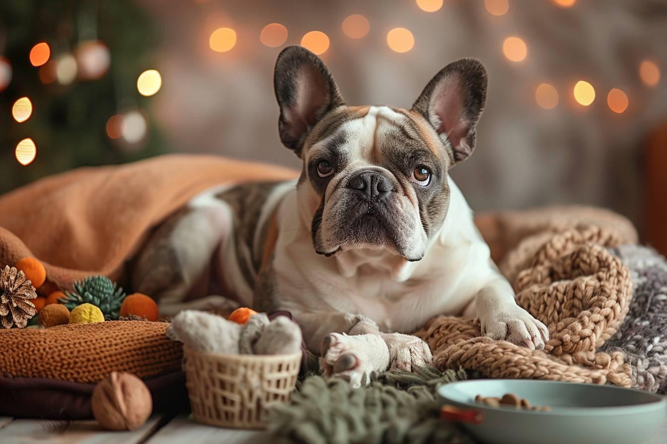
[[[269,442],[263,431],[219,429],[199,425],[187,415],[154,415],[134,431],[104,431],[96,421],[46,421],[0,417],[1,444],[259,444]],[[667,443],[667,417],[646,444]],[[641,444],[641,443],[632,443]]]

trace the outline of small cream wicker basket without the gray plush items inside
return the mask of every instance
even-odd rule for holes
[[[289,399],[301,366],[300,351],[223,355],[183,347],[183,357],[193,418],[219,427],[265,427],[267,408]]]

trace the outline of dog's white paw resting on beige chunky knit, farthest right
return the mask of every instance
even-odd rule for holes
[[[504,308],[482,319],[482,334],[491,339],[504,339],[516,345],[543,349],[549,330],[519,306]]]

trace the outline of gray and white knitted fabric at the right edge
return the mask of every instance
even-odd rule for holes
[[[667,393],[667,261],[652,248],[610,248],[630,269],[632,302],[616,335],[602,351],[626,353],[632,386]]]

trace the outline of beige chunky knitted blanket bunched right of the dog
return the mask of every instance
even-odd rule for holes
[[[637,242],[622,216],[592,208],[551,208],[478,217],[517,302],[549,328],[544,351],[480,334],[477,320],[438,316],[414,334],[439,369],[488,377],[552,379],[630,386],[623,353],[598,352],[628,312],[630,273],[607,247]]]

